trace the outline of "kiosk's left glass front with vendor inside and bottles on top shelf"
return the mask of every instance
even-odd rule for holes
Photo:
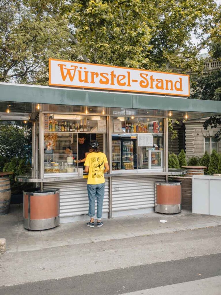
[[[106,117],[44,114],[44,174],[77,174],[84,166],[89,142],[105,151]]]

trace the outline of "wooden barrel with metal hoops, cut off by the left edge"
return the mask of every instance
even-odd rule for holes
[[[11,201],[11,186],[9,177],[0,177],[0,215],[9,212]]]

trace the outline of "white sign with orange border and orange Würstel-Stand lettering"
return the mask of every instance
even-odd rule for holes
[[[189,75],[49,59],[49,85],[189,96]]]

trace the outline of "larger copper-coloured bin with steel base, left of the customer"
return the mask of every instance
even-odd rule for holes
[[[59,225],[59,189],[27,189],[23,194],[24,228],[47,230]]]

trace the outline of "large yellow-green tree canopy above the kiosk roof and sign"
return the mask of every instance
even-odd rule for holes
[[[215,0],[0,0],[0,11],[0,81],[47,85],[48,58],[200,71],[220,9]]]

